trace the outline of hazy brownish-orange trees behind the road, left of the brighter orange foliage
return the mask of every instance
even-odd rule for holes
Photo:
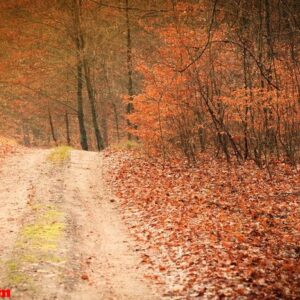
[[[0,103],[9,102],[9,90],[22,99],[24,113],[23,118],[10,102],[11,122],[20,123],[12,135],[21,138],[16,131],[26,128],[27,141],[67,142],[84,150],[102,150],[127,135],[126,112],[132,104],[122,98],[133,96],[130,33],[139,14],[130,5],[90,0],[2,4],[7,54],[0,57],[6,91]],[[24,121],[31,116],[33,122]]]

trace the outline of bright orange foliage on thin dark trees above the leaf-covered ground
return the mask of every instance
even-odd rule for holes
[[[173,24],[153,25],[161,43],[155,56],[140,58],[144,88],[133,99],[133,133],[150,153],[164,156],[180,150],[196,160],[200,150],[213,148],[260,166],[271,157],[296,164],[300,74],[291,49],[274,38],[271,46],[263,41],[266,50],[259,52],[255,17],[241,32],[244,23],[230,27],[222,10],[210,19],[210,4],[198,11],[181,6]]]

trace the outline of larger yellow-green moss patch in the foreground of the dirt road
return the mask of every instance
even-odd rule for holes
[[[35,290],[30,276],[33,266],[63,261],[56,250],[65,233],[64,213],[54,206],[35,205],[33,212],[32,222],[21,229],[13,257],[6,263],[5,280],[7,286],[25,286],[31,292]]]

